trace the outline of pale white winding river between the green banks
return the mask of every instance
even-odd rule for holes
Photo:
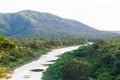
[[[47,64],[52,64],[52,60],[57,60],[59,55],[67,51],[77,49],[79,46],[66,47],[61,49],[55,49],[48,52],[46,55],[42,55],[38,60],[25,64],[14,70],[12,78],[9,80],[42,80],[43,72],[32,72],[33,69],[43,69],[44,71],[48,68]]]

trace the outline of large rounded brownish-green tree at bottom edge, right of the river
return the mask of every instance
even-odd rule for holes
[[[90,64],[75,59],[66,62],[60,70],[63,80],[88,80],[90,71]]]

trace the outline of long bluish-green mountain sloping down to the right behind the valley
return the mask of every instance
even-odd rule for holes
[[[32,10],[0,13],[0,32],[5,36],[22,38],[100,38],[116,35],[75,20]]]

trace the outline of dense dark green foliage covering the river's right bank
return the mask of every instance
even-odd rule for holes
[[[120,39],[66,52],[50,65],[43,80],[120,80]]]

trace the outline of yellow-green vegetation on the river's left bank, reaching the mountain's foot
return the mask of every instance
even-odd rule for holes
[[[53,48],[86,43],[85,39],[8,39],[0,34],[0,78],[9,78],[7,67],[31,61]]]

